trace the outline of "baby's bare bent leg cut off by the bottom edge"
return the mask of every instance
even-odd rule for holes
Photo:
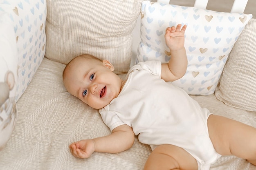
[[[144,170],[198,170],[198,163],[186,150],[165,144],[153,150]]]

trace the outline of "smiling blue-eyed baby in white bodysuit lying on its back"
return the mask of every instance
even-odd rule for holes
[[[108,60],[92,55],[74,58],[63,71],[69,93],[99,109],[111,135],[74,142],[75,157],[93,152],[117,153],[132,147],[135,135],[150,145],[144,170],[209,170],[221,155],[236,155],[256,165],[256,128],[209,113],[170,82],[186,73],[182,27],[168,27],[171,60],[140,62],[125,79]]]

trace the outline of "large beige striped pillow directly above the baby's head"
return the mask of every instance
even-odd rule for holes
[[[47,0],[45,56],[67,64],[88,53],[109,60],[115,73],[126,73],[142,1]]]

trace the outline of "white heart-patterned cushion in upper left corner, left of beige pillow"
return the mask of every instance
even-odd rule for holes
[[[45,56],[46,0],[4,0],[0,11],[9,14],[16,34],[18,79],[16,101],[25,92]]]

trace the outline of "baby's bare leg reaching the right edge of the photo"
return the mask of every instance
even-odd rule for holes
[[[208,131],[220,155],[235,155],[256,166],[256,128],[226,117],[210,115]]]

